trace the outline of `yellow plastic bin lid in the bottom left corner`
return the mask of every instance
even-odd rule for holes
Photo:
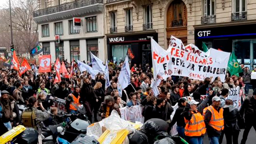
[[[18,125],[14,128],[12,128],[10,131],[5,132],[1,137],[0,137],[0,144],[5,144],[8,141],[11,141],[14,137],[19,135],[21,132],[25,131],[26,128],[23,125]]]

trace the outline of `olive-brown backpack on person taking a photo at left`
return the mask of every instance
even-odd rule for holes
[[[36,112],[32,108],[25,109],[21,114],[21,122],[25,127],[36,129]]]

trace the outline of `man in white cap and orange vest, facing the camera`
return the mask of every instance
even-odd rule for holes
[[[212,105],[204,108],[204,123],[210,144],[219,144],[221,131],[224,130],[223,108],[220,107],[220,97],[212,98]]]

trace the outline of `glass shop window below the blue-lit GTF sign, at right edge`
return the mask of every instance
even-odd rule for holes
[[[232,45],[238,63],[252,70],[256,66],[256,39],[233,40]]]

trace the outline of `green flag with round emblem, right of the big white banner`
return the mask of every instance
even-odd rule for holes
[[[232,52],[229,57],[227,70],[230,72],[230,76],[243,72],[242,68],[240,67],[236,59],[236,55],[234,52]]]

